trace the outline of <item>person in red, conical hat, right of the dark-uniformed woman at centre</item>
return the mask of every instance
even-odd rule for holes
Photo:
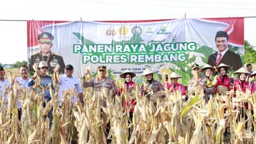
[[[181,92],[181,95],[186,95],[185,87],[183,86],[183,84],[178,83],[179,78],[182,77],[179,76],[179,74],[177,74],[176,72],[172,72],[172,74],[170,74],[171,83],[165,81],[165,87],[169,90],[169,92],[173,93],[179,90]]]

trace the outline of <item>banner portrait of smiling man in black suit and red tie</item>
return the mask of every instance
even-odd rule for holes
[[[233,70],[238,70],[242,67],[241,57],[228,49],[228,34],[226,31],[218,31],[215,36],[215,43],[218,52],[211,54],[208,58],[208,64],[212,67],[224,63],[233,68]]]

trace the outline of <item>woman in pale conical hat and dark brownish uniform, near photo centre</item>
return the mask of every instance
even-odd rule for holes
[[[153,74],[155,74],[153,70],[150,70],[149,68],[146,68],[143,72],[142,76],[145,76],[146,81],[143,82],[141,85],[141,95],[146,95],[148,99],[150,99],[150,95],[154,93],[154,96],[157,97],[163,97],[164,96],[164,88],[163,85],[159,82],[153,79]],[[159,92],[159,93],[157,93]],[[161,93],[163,92],[163,93]],[[156,103],[156,100],[152,99],[154,103]]]

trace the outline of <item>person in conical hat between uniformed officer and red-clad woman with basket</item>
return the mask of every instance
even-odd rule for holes
[[[205,102],[207,103],[214,92],[214,83],[212,81],[212,72],[215,72],[215,68],[206,64],[201,68],[200,72],[204,72],[204,79],[201,80],[204,83]]]

